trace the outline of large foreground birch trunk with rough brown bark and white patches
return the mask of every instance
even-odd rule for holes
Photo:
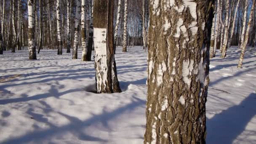
[[[144,144],[205,144],[213,0],[150,3]]]

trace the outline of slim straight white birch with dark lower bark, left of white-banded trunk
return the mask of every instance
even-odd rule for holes
[[[82,0],[81,5],[81,37],[82,37],[82,61],[86,61],[86,54],[87,54],[87,35],[86,35],[86,11],[85,11],[85,0]]]

